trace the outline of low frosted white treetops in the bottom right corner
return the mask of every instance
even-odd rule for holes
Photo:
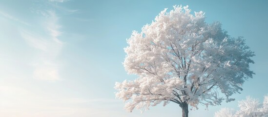
[[[247,97],[238,102],[239,109],[234,113],[233,109],[223,108],[216,112],[214,117],[268,117],[268,95],[263,104],[258,99]],[[231,113],[230,113],[231,112]]]

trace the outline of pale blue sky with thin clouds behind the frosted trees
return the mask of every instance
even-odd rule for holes
[[[0,117],[163,117],[181,115],[175,103],[127,113],[115,82],[134,79],[122,62],[126,39],[165,8],[188,5],[243,36],[255,52],[256,75],[235,101],[202,105],[189,117],[238,109],[246,96],[268,94],[267,0],[0,0]],[[180,116],[179,116],[180,117]]]

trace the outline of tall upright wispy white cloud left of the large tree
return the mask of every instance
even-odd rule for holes
[[[60,80],[57,57],[62,49],[62,41],[58,37],[62,34],[59,29],[58,17],[53,11],[47,11],[46,20],[43,22],[45,36],[30,31],[21,31],[21,37],[36,50],[38,54],[33,62],[33,77],[42,80]]]

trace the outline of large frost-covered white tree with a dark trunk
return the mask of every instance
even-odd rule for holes
[[[183,117],[188,105],[219,105],[252,78],[254,63],[242,37],[231,38],[220,22],[207,24],[202,11],[190,14],[188,6],[162,11],[141,33],[133,31],[124,48],[124,68],[134,80],[116,82],[116,97],[125,109],[148,109],[163,102],[179,104]],[[220,97],[220,90],[226,98]]]

